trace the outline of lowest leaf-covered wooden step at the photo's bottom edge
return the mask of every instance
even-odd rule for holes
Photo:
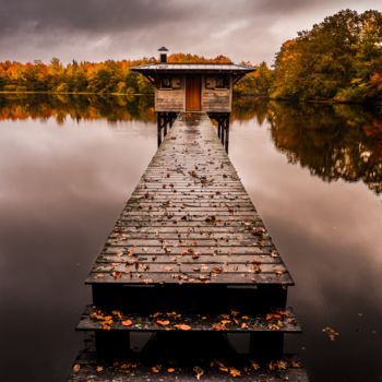
[[[105,362],[97,360],[94,353],[83,351],[72,367],[69,382],[309,382],[302,363],[294,356],[262,360],[244,356],[191,362],[184,365],[176,359],[158,362],[134,356]]]

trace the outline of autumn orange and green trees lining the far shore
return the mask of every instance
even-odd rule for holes
[[[382,108],[382,13],[344,10],[285,41],[272,69],[253,64],[234,87],[236,95],[270,99],[372,104]],[[132,67],[155,58],[103,62],[0,62],[0,93],[153,94],[152,84]],[[227,63],[228,57],[174,53],[168,62]]]

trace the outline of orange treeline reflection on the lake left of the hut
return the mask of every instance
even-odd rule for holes
[[[132,119],[155,121],[151,96],[97,96],[13,94],[0,96],[0,120],[67,117],[75,120],[106,119],[109,122]]]

